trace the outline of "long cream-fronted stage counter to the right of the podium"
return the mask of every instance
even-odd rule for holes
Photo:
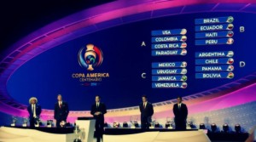
[[[204,133],[204,130],[189,130],[189,131],[175,131],[172,129],[149,129],[148,131],[142,131],[139,129],[131,128],[118,128],[118,129],[106,129],[106,132],[113,131],[115,133],[125,133],[125,131],[133,134],[105,134],[103,136],[104,142],[122,141],[122,142],[210,142],[211,140]]]

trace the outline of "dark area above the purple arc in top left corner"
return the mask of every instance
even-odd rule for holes
[[[0,2],[0,53],[49,23],[113,0],[8,0]],[[1,55],[1,54],[0,54]]]

